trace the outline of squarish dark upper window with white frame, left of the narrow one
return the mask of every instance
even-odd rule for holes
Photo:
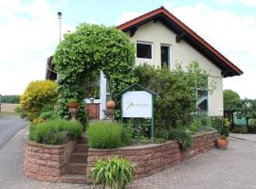
[[[152,43],[137,43],[137,58],[152,60]]]

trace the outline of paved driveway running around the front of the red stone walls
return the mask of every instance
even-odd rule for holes
[[[23,142],[27,129],[20,130],[0,149],[0,188],[88,189],[88,185],[30,180],[23,175]],[[136,180],[129,189],[256,189],[254,142],[229,138],[225,151],[212,149],[151,177]]]

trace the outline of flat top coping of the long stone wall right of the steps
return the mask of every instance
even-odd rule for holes
[[[210,135],[212,133],[217,132],[216,130],[213,131],[208,131],[208,132],[203,132],[199,133],[196,135],[193,135],[192,138],[197,138],[205,135]],[[137,149],[148,149],[148,148],[154,148],[154,147],[159,147],[159,146],[166,146],[166,145],[171,145],[177,143],[177,141],[167,141],[166,143],[161,143],[161,144],[147,144],[147,145],[139,145],[139,146],[122,146],[118,148],[111,148],[111,149],[105,149],[105,148],[89,148],[89,152],[111,152],[111,151],[127,151],[127,150],[137,150]]]

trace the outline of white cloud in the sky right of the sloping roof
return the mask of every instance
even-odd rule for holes
[[[224,89],[232,89],[242,97],[256,98],[251,86],[251,81],[256,78],[255,17],[237,15],[227,9],[211,9],[204,4],[176,7],[166,2],[166,9],[245,72],[242,77],[225,78]],[[133,12],[122,15],[133,15]]]

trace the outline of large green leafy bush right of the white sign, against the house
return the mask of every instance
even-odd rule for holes
[[[192,61],[185,71],[177,64],[174,72],[144,64],[136,67],[135,75],[139,84],[158,95],[155,98],[155,125],[158,128],[188,125],[192,121],[192,112],[196,112],[195,85],[208,88],[208,75],[197,61]],[[213,84],[211,87],[210,91]]]

